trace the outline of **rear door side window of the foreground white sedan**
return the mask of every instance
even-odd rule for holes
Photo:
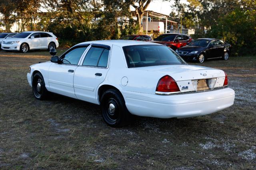
[[[104,67],[108,66],[109,50],[102,47],[91,47],[85,56],[83,66]]]

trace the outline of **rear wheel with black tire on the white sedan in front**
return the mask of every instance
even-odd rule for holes
[[[128,111],[122,94],[116,89],[106,90],[100,102],[102,118],[111,127],[122,127],[132,123],[133,115]]]

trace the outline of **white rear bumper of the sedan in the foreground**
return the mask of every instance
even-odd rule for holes
[[[207,115],[232,106],[235,98],[235,92],[230,88],[170,96],[121,92],[130,113],[158,118]]]

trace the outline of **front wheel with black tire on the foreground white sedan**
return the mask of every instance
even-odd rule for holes
[[[37,72],[33,76],[32,90],[37,100],[44,100],[48,95],[48,91],[45,88],[44,78],[41,73]]]

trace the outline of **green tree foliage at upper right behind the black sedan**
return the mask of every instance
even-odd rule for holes
[[[173,8],[183,25],[196,26],[193,38],[218,38],[232,45],[233,54],[256,55],[255,0],[176,0]]]

